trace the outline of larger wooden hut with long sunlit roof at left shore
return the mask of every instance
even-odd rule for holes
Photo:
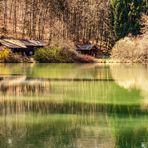
[[[35,49],[44,47],[44,44],[35,40],[0,39],[0,49],[9,48],[14,53],[26,56],[34,54]]]

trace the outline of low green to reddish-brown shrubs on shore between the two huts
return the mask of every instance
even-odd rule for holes
[[[68,48],[41,48],[36,50],[35,60],[40,63],[93,63],[95,58],[79,54],[77,51]]]

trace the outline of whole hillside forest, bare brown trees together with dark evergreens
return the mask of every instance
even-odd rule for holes
[[[93,40],[110,49],[140,31],[147,0],[0,0],[0,35],[44,40]]]

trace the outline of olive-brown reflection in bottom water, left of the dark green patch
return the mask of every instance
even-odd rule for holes
[[[0,128],[4,133],[0,136],[4,140],[1,147],[114,147],[104,117],[27,114],[7,116],[0,122],[4,126]]]

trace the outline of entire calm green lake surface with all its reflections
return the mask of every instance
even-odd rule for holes
[[[0,64],[0,148],[148,148],[148,67]]]

